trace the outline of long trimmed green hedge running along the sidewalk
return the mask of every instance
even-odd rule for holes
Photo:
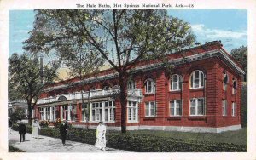
[[[17,127],[14,127],[17,130]],[[27,131],[31,133],[32,127]],[[59,129],[42,128],[41,135],[60,138]],[[94,145],[96,129],[68,129],[67,140]],[[121,134],[120,131],[107,132],[107,146],[126,151],[137,152],[241,152],[247,151],[247,146],[232,143],[210,143],[198,141],[177,140],[167,137],[142,135],[132,132]]]

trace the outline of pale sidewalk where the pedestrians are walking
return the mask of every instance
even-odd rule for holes
[[[61,139],[43,135],[39,135],[39,139],[33,139],[31,134],[26,134],[25,142],[20,143],[20,134],[14,130],[12,130],[12,134],[8,135],[8,139],[10,146],[14,146],[26,152],[129,152],[108,147],[106,151],[102,151],[93,145],[70,140],[67,140],[66,145],[63,146]]]

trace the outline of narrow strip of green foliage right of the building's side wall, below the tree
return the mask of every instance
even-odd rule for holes
[[[247,127],[247,83],[241,86],[241,127]]]

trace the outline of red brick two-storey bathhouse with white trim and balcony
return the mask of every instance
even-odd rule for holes
[[[206,43],[167,58],[172,74],[159,60],[141,61],[132,69],[127,79],[128,130],[218,133],[241,128],[244,71],[221,43]],[[103,121],[108,129],[121,129],[118,84],[112,69],[55,83],[41,94],[36,115],[52,122],[67,119],[77,127],[95,128]]]

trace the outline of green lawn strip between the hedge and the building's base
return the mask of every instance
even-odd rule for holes
[[[174,131],[136,130],[127,131],[131,134],[143,134],[149,136],[170,137],[187,142],[212,142],[212,143],[233,143],[236,145],[247,145],[247,128],[223,133],[190,133]]]

